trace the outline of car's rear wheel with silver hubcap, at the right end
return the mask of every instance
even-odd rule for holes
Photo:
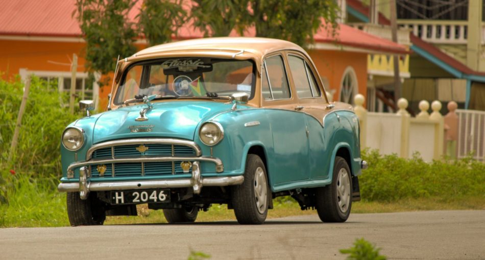
[[[337,156],[332,183],[317,188],[317,212],[323,222],[345,222],[352,207],[352,177],[347,161]]]

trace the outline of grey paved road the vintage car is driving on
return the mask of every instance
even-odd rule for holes
[[[485,210],[351,214],[324,224],[317,215],[236,222],[0,229],[0,259],[344,259],[356,238],[390,259],[485,259]]]

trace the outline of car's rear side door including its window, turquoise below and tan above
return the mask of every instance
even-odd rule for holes
[[[322,89],[318,85],[311,66],[298,53],[288,53],[290,76],[296,89],[298,107],[305,113],[305,124],[308,136],[308,167],[311,179],[326,178],[328,176],[329,161],[328,144],[332,126],[323,127],[323,117],[328,111],[325,109],[325,99]],[[327,134],[326,134],[327,133]]]

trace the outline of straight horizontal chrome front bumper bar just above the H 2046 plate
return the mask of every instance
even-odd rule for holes
[[[201,179],[201,186],[229,186],[243,183],[244,177],[208,177]],[[78,192],[79,182],[61,182],[57,186],[59,192]],[[116,182],[91,182],[87,185],[90,192],[143,190],[147,188],[182,188],[192,187],[192,179],[167,179],[145,181],[116,181]]]

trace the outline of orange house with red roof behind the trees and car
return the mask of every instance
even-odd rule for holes
[[[67,91],[72,56],[76,54],[79,96],[94,99],[100,110],[104,110],[111,85],[100,88],[85,72],[85,43],[78,21],[72,17],[75,3],[75,0],[0,0],[0,77],[9,79],[18,74],[25,79],[35,74],[48,82],[57,81],[59,90]],[[130,12],[130,16],[135,15],[136,12]],[[202,35],[187,25],[178,31],[178,38],[174,40]],[[144,48],[143,39],[137,43],[138,49]],[[367,93],[367,54],[406,54],[407,51],[403,45],[341,24],[336,36],[320,30],[308,53],[333,100],[353,103],[355,94]]]

